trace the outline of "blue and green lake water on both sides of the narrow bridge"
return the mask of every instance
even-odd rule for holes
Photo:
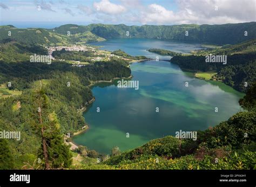
[[[148,39],[114,39],[93,45],[104,46],[103,49],[109,51],[120,48],[131,55],[150,57],[156,56],[146,51],[152,47],[183,53],[201,48],[200,44]],[[238,100],[242,93],[220,82],[187,76],[176,64],[136,62],[131,64],[131,70],[132,80],[139,81],[138,90],[118,88],[117,81],[93,87],[96,101],[84,112],[90,128],[73,137],[75,143],[110,154],[114,146],[124,151],[152,139],[175,135],[176,131],[205,130],[241,110]],[[185,87],[186,82],[188,87]]]

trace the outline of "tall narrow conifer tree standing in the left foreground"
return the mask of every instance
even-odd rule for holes
[[[72,163],[69,147],[64,144],[63,134],[55,112],[50,113],[48,96],[40,88],[36,90],[38,103],[39,127],[41,131],[42,148],[39,156],[44,157],[44,168],[68,168]]]

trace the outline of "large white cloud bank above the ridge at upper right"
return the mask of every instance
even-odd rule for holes
[[[150,4],[140,12],[143,24],[225,24],[255,21],[255,0],[179,0],[177,11]]]

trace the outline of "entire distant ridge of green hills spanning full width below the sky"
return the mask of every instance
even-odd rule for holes
[[[143,25],[126,26],[90,24],[62,25],[53,29],[19,29],[12,25],[0,26],[0,40],[11,38],[24,44],[68,45],[103,41],[110,38],[153,38],[210,44],[238,44],[256,38],[256,23],[224,25]]]

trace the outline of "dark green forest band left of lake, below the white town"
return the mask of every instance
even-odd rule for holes
[[[6,63],[0,61],[0,83],[12,81],[10,89],[30,88],[33,81],[49,78],[57,78],[62,73],[72,72],[77,74],[84,85],[90,81],[110,81],[114,77],[129,77],[130,68],[124,60],[113,60],[112,62],[96,62],[85,67],[72,67],[65,62],[54,62],[51,65],[44,63]]]

